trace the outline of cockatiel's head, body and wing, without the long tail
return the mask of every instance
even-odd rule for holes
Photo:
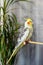
[[[21,38],[19,38],[18,43],[22,43],[24,41],[30,40],[33,33],[33,23],[31,19],[27,19],[27,21],[24,24],[24,32]],[[20,41],[20,42],[19,42]]]

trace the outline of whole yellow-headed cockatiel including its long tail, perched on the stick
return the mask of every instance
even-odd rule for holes
[[[18,50],[26,44],[30,40],[33,34],[33,22],[30,18],[26,19],[26,22],[24,23],[24,32],[21,38],[18,39],[18,44],[15,46],[12,55],[10,56],[9,60],[7,61],[7,64],[11,60],[11,58],[16,55]]]

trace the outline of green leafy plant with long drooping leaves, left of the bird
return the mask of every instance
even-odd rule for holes
[[[13,3],[18,1],[26,1],[26,0],[3,0],[3,32],[1,31],[0,26],[0,61],[2,65],[6,65],[6,61],[10,57],[12,50],[17,43],[18,37],[18,29],[20,27],[19,23],[17,22],[17,18],[13,12],[9,13],[8,8]],[[9,65],[13,64],[15,58],[13,58]]]

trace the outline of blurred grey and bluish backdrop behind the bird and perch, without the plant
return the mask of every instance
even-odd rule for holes
[[[18,22],[24,23],[23,18],[31,18],[34,24],[32,40],[43,42],[43,0],[18,2],[13,12]],[[17,54],[14,65],[43,65],[43,46],[26,45]]]

